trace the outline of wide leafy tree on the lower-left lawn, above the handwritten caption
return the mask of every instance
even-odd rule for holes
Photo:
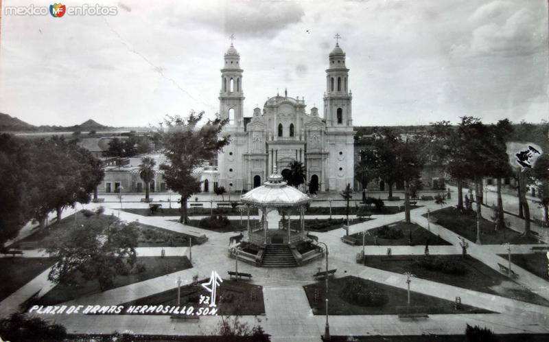
[[[102,291],[113,287],[116,275],[127,274],[135,264],[137,231],[109,216],[103,220],[84,220],[75,229],[63,231],[54,239],[48,253],[53,255],[54,266],[48,280],[54,283],[76,285],[75,273],[86,280],[97,280]]]

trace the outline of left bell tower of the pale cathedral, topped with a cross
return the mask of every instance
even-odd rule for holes
[[[244,92],[242,91],[242,73],[240,54],[233,46],[235,36],[231,34],[231,47],[224,56],[221,69],[221,91],[219,94],[220,117],[229,119],[229,126],[244,127]]]

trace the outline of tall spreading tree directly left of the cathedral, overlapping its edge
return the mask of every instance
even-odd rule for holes
[[[166,128],[159,130],[170,162],[162,164],[161,169],[167,186],[181,195],[181,223],[187,223],[187,200],[200,192],[200,181],[193,175],[194,170],[229,144],[229,137],[221,135],[229,121],[216,117],[198,127],[203,116],[204,112],[191,112],[186,118],[167,116],[163,123]]]

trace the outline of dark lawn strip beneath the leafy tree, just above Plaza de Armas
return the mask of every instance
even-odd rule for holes
[[[139,272],[137,267],[135,267],[128,275],[117,275],[114,280],[113,288],[143,282],[143,280],[161,277],[162,275],[190,269],[192,267],[192,264],[187,257],[137,257],[136,266],[138,264],[144,264],[145,270]],[[78,272],[75,274],[75,279],[77,280],[78,285],[67,286],[65,284],[57,284],[46,293],[44,297],[38,299],[38,303],[36,304],[54,305],[101,292],[97,280],[85,280]]]

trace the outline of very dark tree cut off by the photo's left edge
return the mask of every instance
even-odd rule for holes
[[[0,134],[0,246],[32,218],[29,205],[32,148],[29,141]]]

